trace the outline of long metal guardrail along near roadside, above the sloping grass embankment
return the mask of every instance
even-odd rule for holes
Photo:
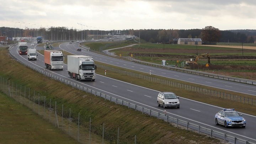
[[[75,84],[75,83],[73,83],[71,81],[68,81],[68,80],[59,78],[59,77],[57,77],[55,75],[49,74],[46,71],[40,70],[38,68],[35,68],[35,67],[33,67],[33,66],[31,66],[31,65],[29,65],[27,63],[24,63],[21,60],[15,58],[14,55],[12,55],[10,52],[9,52],[9,55],[13,59],[17,60],[17,62],[19,62],[19,63],[27,66],[28,68],[31,68],[34,71],[37,71],[37,72],[39,72],[39,73],[41,73],[41,74],[43,74],[43,75],[45,75],[45,76],[47,76],[49,78],[52,78],[54,80],[58,80],[58,81],[66,84],[66,85],[75,87],[76,89],[85,91],[85,92],[93,94],[95,96],[99,96],[101,98],[104,98],[105,100],[109,100],[109,101],[114,102],[116,104],[119,104],[121,106],[127,106],[128,108],[133,108],[135,111],[140,111],[143,114],[148,114],[150,117],[151,116],[152,117],[157,117],[158,119],[163,119],[167,123],[174,123],[174,124],[176,124],[176,127],[181,126],[181,127],[186,127],[187,130],[189,130],[189,129],[197,130],[198,134],[204,133],[204,134],[210,135],[211,138],[216,137],[216,138],[224,139],[225,142],[227,142],[227,141],[228,142],[233,142],[234,144],[236,144],[236,143],[256,144],[256,142],[252,142],[252,141],[248,140],[247,137],[243,137],[243,136],[235,137],[234,135],[231,135],[231,134],[223,133],[223,132],[220,132],[218,130],[214,130],[214,129],[211,129],[211,128],[208,128],[208,127],[200,126],[200,125],[198,125],[196,123],[192,123],[192,122],[189,122],[189,121],[178,119],[178,118],[169,116],[169,115],[167,115],[165,113],[160,113],[160,112],[151,110],[149,108],[145,108],[145,107],[136,105],[134,103],[130,103],[130,102],[121,100],[119,98],[112,97],[112,96],[103,94],[101,92],[97,92],[97,91],[92,90],[92,89],[88,89],[86,87],[83,87],[83,86],[80,86],[78,84]]]

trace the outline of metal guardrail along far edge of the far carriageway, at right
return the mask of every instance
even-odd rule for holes
[[[234,81],[234,82],[239,82],[239,83],[244,83],[244,84],[256,85],[256,81],[254,81],[254,80],[234,78],[234,77],[231,77],[231,76],[217,75],[217,74],[205,73],[205,72],[196,71],[196,70],[176,68],[176,67],[173,67],[173,66],[149,63],[149,62],[144,62],[144,61],[135,60],[135,59],[133,59],[132,61],[135,62],[135,63],[155,66],[155,67],[158,67],[158,68],[164,68],[164,69],[169,69],[169,70],[180,71],[180,72],[183,72],[183,73],[189,73],[189,74],[194,74],[194,75],[206,76],[206,77],[209,77],[209,78],[215,78],[215,79]]]

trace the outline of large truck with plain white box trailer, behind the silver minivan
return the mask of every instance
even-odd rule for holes
[[[68,74],[76,80],[95,81],[95,70],[93,57],[85,55],[68,55]]]

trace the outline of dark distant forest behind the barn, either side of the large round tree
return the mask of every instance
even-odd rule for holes
[[[191,30],[135,30],[135,36],[139,36],[147,42],[162,42],[172,43],[176,38],[201,38],[202,41],[206,39],[202,36],[203,29]],[[215,42],[243,42],[254,43],[256,39],[256,30],[225,30],[220,31],[218,40]]]

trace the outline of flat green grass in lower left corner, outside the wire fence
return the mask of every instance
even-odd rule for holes
[[[33,111],[0,93],[1,144],[76,144],[77,140],[56,129]]]

